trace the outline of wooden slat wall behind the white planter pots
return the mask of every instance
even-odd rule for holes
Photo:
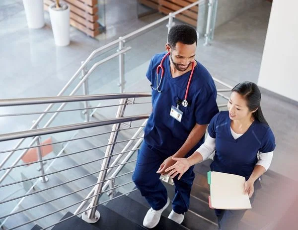
[[[70,24],[91,37],[99,34],[97,0],[65,0],[71,8]],[[44,0],[44,9],[49,11],[49,5],[54,0]]]

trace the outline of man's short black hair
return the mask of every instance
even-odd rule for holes
[[[174,25],[168,34],[168,44],[175,49],[176,43],[181,42],[186,45],[197,44],[197,31],[190,25]]]

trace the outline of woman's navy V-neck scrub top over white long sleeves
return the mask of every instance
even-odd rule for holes
[[[209,135],[216,138],[211,170],[240,175],[248,180],[258,161],[257,153],[274,150],[273,132],[267,124],[254,120],[242,136],[234,139],[230,127],[227,111],[215,115],[208,126]]]

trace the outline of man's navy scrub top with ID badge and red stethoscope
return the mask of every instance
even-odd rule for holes
[[[152,57],[147,78],[156,88],[156,68],[166,53]],[[152,90],[152,113],[145,127],[145,142],[167,155],[174,154],[186,141],[196,123],[208,124],[219,110],[216,103],[217,91],[214,81],[207,69],[197,62],[190,83],[187,101],[188,107],[179,106],[183,112],[181,122],[170,116],[171,107],[177,106],[177,99],[183,101],[191,71],[172,78],[169,56],[163,62],[164,76],[158,93]],[[161,70],[158,73],[158,84]],[[200,142],[189,152],[192,154],[202,143]]]

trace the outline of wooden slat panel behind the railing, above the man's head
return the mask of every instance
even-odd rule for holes
[[[140,3],[151,8],[158,9],[159,12],[168,14],[177,11],[197,0],[139,0]],[[176,18],[193,26],[197,26],[198,6],[191,7],[188,10],[176,15]]]

